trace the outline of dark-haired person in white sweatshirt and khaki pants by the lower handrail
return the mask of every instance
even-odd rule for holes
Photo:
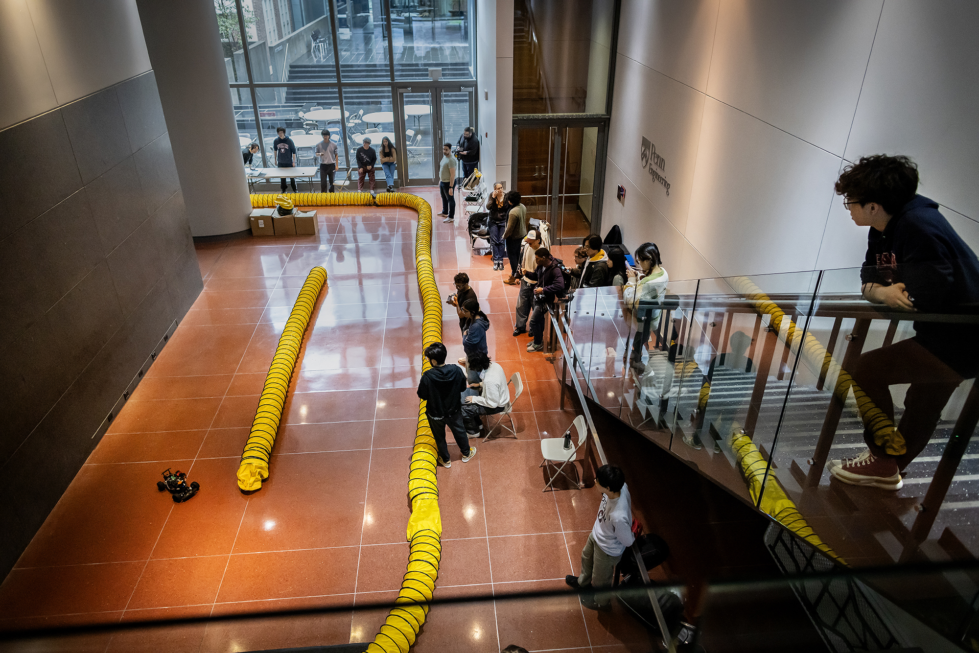
[[[575,589],[601,590],[612,586],[615,566],[635,541],[632,534],[632,497],[626,486],[626,474],[615,465],[602,465],[595,474],[595,484],[602,490],[602,503],[591,527],[591,535],[582,549],[582,573],[564,577]],[[582,605],[592,610],[608,610],[611,597],[582,595]]]

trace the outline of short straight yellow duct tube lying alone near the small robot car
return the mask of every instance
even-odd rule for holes
[[[252,196],[255,198],[255,196]],[[270,196],[272,197],[272,196]],[[242,452],[238,467],[238,487],[245,491],[260,490],[261,482],[268,478],[268,459],[272,455],[272,444],[279,430],[282,409],[289,393],[289,381],[296,367],[296,359],[303,346],[303,334],[309,324],[309,316],[319,293],[326,283],[326,270],[317,265],[309,270],[300,296],[286,321],[279,337],[272,364],[265,376],[265,387],[258,398],[258,409],[252,422],[252,433]]]

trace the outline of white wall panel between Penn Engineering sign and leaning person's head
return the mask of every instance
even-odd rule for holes
[[[814,269],[839,164],[708,98],[684,235],[723,276]]]

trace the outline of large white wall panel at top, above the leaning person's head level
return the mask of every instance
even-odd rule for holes
[[[708,95],[842,156],[880,7],[722,3]]]

